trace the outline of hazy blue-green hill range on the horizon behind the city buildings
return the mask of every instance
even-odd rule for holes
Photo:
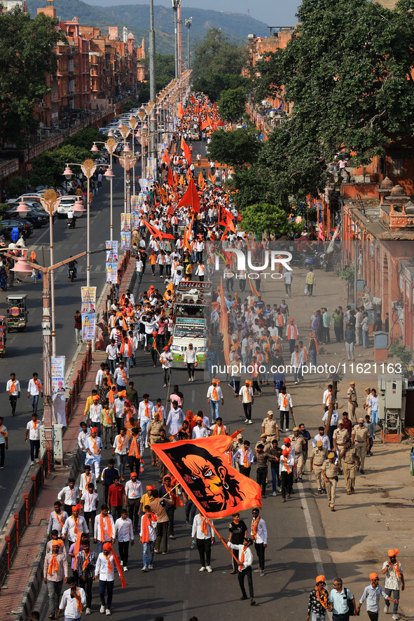
[[[33,16],[37,8],[43,6],[39,0],[26,0],[27,9]],[[91,6],[81,0],[55,0],[57,16],[60,20],[71,20],[77,17],[83,26],[95,26],[102,28],[104,34],[109,26],[118,26],[118,32],[122,36],[122,27],[125,25],[128,32],[135,36],[137,45],[142,37],[148,43],[149,33],[149,5],[148,4],[123,4],[120,6]],[[207,30],[212,27],[221,29],[228,36],[231,43],[247,45],[247,35],[267,36],[268,29],[263,22],[254,20],[248,15],[238,13],[220,13],[219,11],[207,11],[200,8],[181,7],[182,46],[183,60],[186,60],[187,31],[184,20],[192,17],[193,23],[190,29],[191,49],[195,43],[204,39]],[[156,27],[156,50],[160,54],[174,54],[174,21],[171,8],[154,6],[154,22]]]

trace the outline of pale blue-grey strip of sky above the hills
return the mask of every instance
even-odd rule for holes
[[[115,4],[148,4],[134,0],[84,0],[95,6],[113,6]],[[154,4],[171,6],[171,0],[154,0]],[[296,0],[182,0],[188,8],[209,8],[212,11],[228,11],[230,13],[250,12],[252,18],[264,22],[268,26],[294,26],[297,22]]]

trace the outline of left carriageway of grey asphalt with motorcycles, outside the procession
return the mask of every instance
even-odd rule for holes
[[[120,230],[119,214],[123,211],[123,169],[116,164],[113,180],[113,237],[116,239]],[[109,183],[104,180],[99,195],[93,198],[90,212],[90,249],[104,248],[105,239],[109,239]],[[76,229],[67,228],[66,219],[55,220],[53,226],[54,261],[69,258],[86,249],[86,216],[78,218]],[[49,228],[35,230],[27,240],[29,251],[36,252],[37,260],[42,264],[42,246],[44,249],[45,265],[50,265]],[[105,253],[90,256],[90,285],[97,287],[99,297],[105,283]],[[78,260],[78,279],[71,283],[67,279],[67,267],[58,267],[55,270],[55,306],[56,306],[56,349],[57,355],[64,355],[67,364],[76,351],[74,339],[74,314],[81,307],[81,286],[86,285],[86,258]],[[8,291],[0,292],[0,314],[6,314],[6,297],[12,293],[27,293],[29,309],[29,323],[27,333],[12,332],[8,335],[6,355],[0,360],[0,408],[5,416],[4,424],[8,428],[9,450],[6,455],[6,469],[0,473],[0,489],[3,506],[11,498],[20,479],[20,475],[27,466],[29,444],[23,442],[25,427],[30,420],[32,407],[27,399],[27,382],[34,370],[39,371],[43,380],[43,360],[41,344],[41,309],[42,284],[32,283],[27,277],[22,284],[15,280],[15,286]],[[10,403],[6,393],[6,382],[10,373],[15,371],[22,386],[22,394],[18,401],[16,416],[11,417]],[[40,412],[43,410],[43,405]]]

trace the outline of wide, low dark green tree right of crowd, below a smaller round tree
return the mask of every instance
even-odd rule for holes
[[[251,164],[256,161],[261,146],[257,132],[218,130],[212,134],[209,143],[209,157],[216,162],[229,166]]]

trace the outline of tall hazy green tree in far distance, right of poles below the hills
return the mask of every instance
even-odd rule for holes
[[[195,46],[193,60],[193,88],[216,101],[222,90],[249,84],[241,76],[247,63],[248,52],[244,46],[229,43],[218,29],[210,28],[205,40]]]

